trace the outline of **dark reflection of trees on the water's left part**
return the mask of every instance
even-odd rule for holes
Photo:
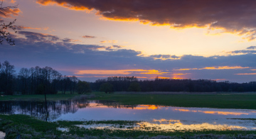
[[[48,116],[46,104],[44,101],[0,101],[1,114],[26,114],[35,116],[43,121],[53,121],[63,114],[75,113],[78,109],[84,109],[90,106],[87,100],[63,100],[47,101]],[[94,101],[99,105],[104,105],[114,109],[134,109],[137,105],[120,105],[111,101]]]

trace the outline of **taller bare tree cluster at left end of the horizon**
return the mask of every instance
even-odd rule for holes
[[[0,62],[0,93],[14,94],[73,94],[90,92],[90,84],[82,82],[77,77],[63,76],[51,67],[21,68],[18,73],[8,61]],[[82,89],[81,89],[82,88]]]

